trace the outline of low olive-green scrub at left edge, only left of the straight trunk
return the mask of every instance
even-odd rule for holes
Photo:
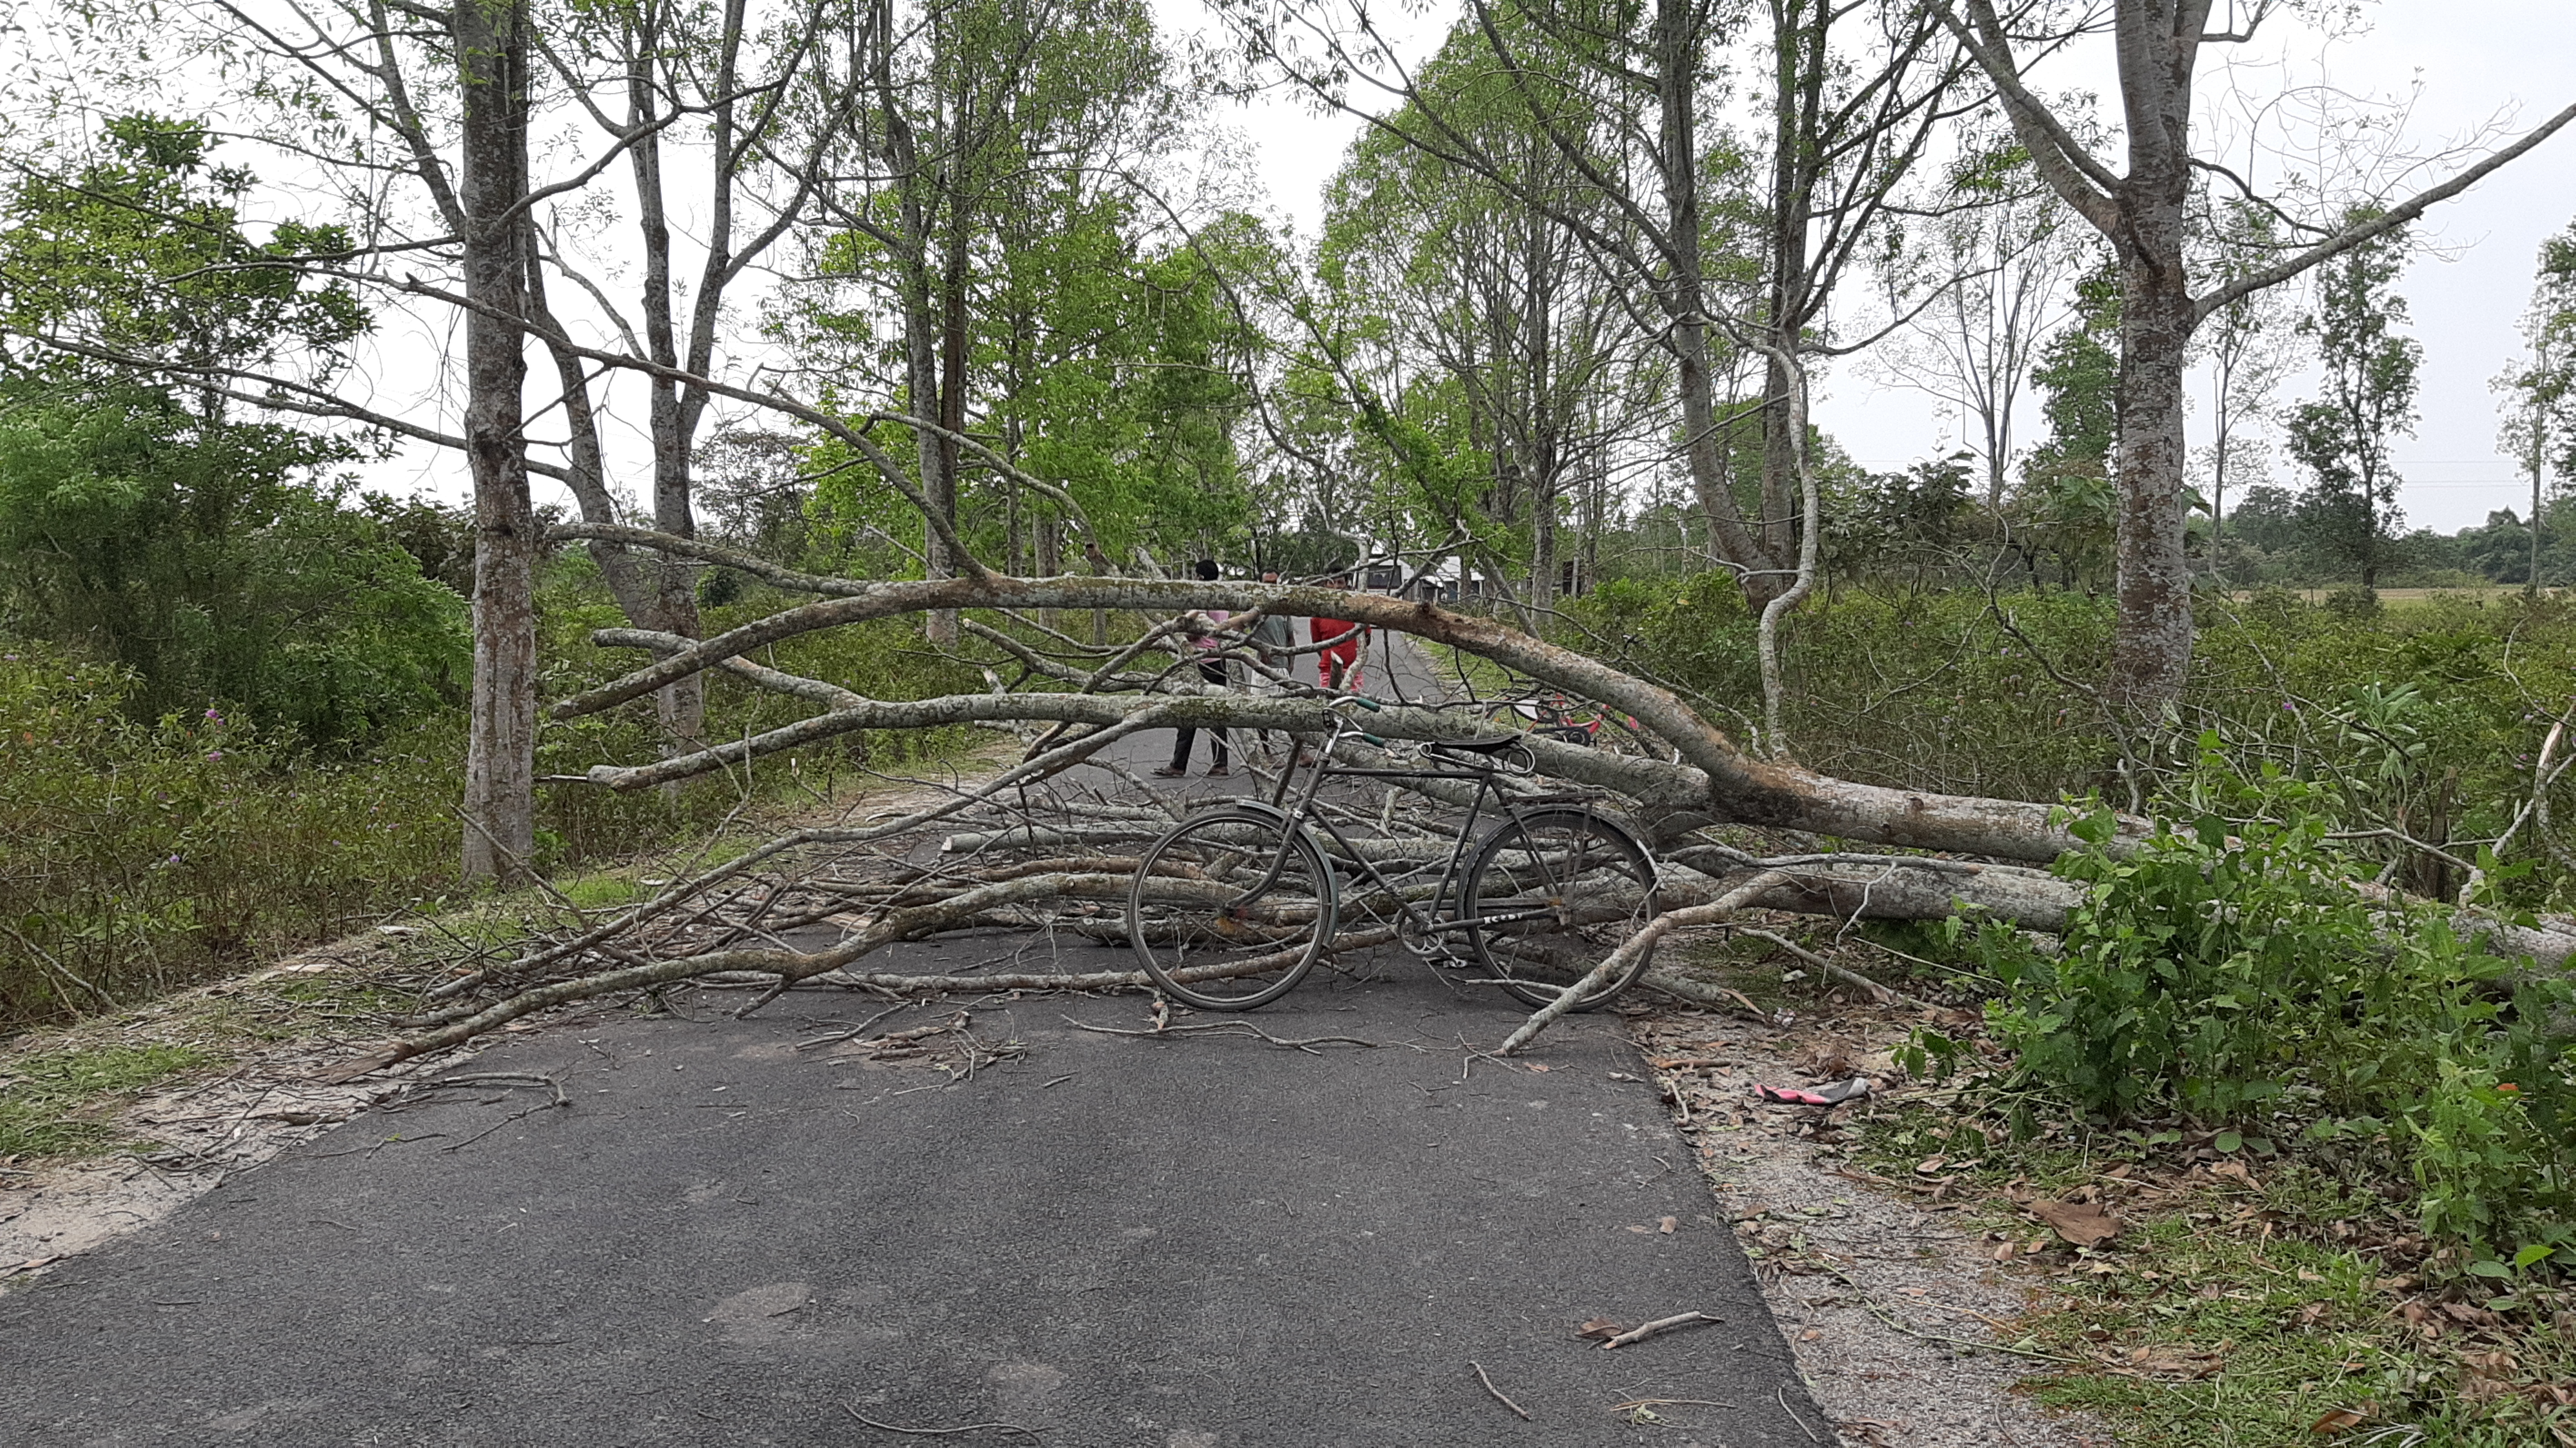
[[[137,724],[129,688],[44,647],[0,652],[0,1023],[355,928],[453,871],[448,737],[319,760],[222,711]]]

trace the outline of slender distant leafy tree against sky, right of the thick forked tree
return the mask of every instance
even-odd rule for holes
[[[2316,309],[2300,317],[2316,340],[2324,397],[2290,412],[2290,456],[2311,474],[2308,515],[2329,546],[2380,585],[2388,528],[2398,513],[2398,469],[2388,451],[2414,433],[2416,368],[2424,345],[2398,332],[2406,299],[2391,291],[2406,252],[2398,234],[2344,250],[2316,273]]]

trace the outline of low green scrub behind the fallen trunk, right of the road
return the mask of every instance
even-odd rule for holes
[[[2269,763],[2331,783],[2339,830],[2396,830],[2470,858],[2530,801],[2540,745],[2576,698],[2576,605],[2550,598],[2352,613],[2264,590],[2197,608],[2179,719],[2130,724],[2123,750],[2087,691],[2110,662],[2107,598],[1844,590],[1785,621],[1790,752],[1865,783],[2143,806],[2197,770],[2197,739],[2215,732],[2246,773]],[[1723,575],[1620,580],[1569,613],[1569,644],[1692,691],[1713,719],[1759,711],[1754,624]],[[2576,819],[2576,770],[2550,804],[2550,819]],[[2393,835],[2352,848],[2396,863],[2391,884],[2416,894],[2463,884],[2458,866]],[[2576,843],[2558,850],[2576,855]],[[2506,884],[2509,902],[2576,904],[2576,876],[2537,819],[2504,861],[2537,866]]]

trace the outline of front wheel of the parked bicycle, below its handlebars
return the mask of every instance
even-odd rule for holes
[[[1128,943],[1164,995],[1200,1010],[1252,1010],[1324,958],[1332,871],[1314,840],[1267,814],[1182,819],[1136,863]]]

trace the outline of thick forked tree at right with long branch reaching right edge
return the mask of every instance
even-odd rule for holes
[[[2246,0],[2228,8],[2231,31],[2213,31],[2213,0],[2110,0],[2107,23],[2092,5],[2063,10],[2020,5],[2012,15],[1996,10],[1994,0],[1932,5],[1994,82],[2032,165],[2110,240],[2120,265],[2117,636],[2110,693],[2148,711],[2182,698],[2182,678],[2192,660],[2192,575],[2184,554],[2190,459],[2182,438],[2182,386],[2192,335],[2239,296],[2280,286],[2403,227],[2576,121],[2576,106],[2568,106],[2439,186],[2362,222],[2303,224],[2306,245],[2287,258],[2197,286],[2190,255],[2192,186],[2202,173],[2233,178],[2228,167],[2192,149],[2192,77],[2200,70],[2200,52],[2213,44],[2246,44],[2264,21],[2287,8],[2287,0]],[[2032,31],[2056,15],[2074,21],[2032,41]],[[2125,170],[2094,155],[2094,147],[2079,139],[2079,126],[2043,100],[2022,75],[2032,59],[2099,31],[2112,39],[2120,75]]]

